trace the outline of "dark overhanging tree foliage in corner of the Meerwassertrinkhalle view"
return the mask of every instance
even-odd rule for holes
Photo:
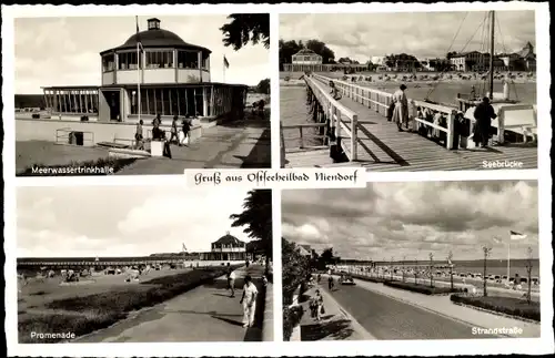
[[[225,47],[241,50],[249,42],[262,42],[270,49],[270,14],[269,13],[232,13],[228,17],[232,21],[220,28]]]

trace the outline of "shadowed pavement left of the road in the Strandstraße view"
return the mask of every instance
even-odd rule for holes
[[[320,289],[324,299],[323,321],[311,317],[309,301],[302,304],[301,340],[371,340],[375,339],[322,286],[315,286],[303,295],[312,297]]]

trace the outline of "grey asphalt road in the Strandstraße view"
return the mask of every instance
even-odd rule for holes
[[[322,278],[326,279],[324,275]],[[369,286],[361,280],[355,280],[355,283],[356,286],[337,285],[331,293],[327,287],[325,290],[376,339],[496,337],[475,336],[472,334],[473,326],[467,323],[369,289]]]

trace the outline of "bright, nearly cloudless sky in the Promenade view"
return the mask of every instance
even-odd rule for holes
[[[225,197],[225,200],[222,200]],[[176,185],[21,187],[18,257],[95,257],[208,252],[229,231],[246,191]]]

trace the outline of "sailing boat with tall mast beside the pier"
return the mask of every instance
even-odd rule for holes
[[[484,81],[483,85],[480,85],[478,90],[473,85],[471,93],[460,93],[455,99],[457,105],[451,103],[435,102],[430,99],[430,95],[434,92],[436,85],[432,86],[427,93],[424,102],[432,104],[440,104],[452,106],[454,110],[463,112],[464,117],[474,121],[474,110],[476,104],[482,101],[482,98],[488,96],[490,103],[492,104],[497,117],[492,121],[492,127],[496,129],[496,135],[494,136],[494,144],[501,145],[506,142],[528,142],[532,139],[532,143],[536,142],[537,139],[537,119],[536,119],[536,108],[532,103],[523,103],[518,100],[516,94],[516,85],[514,80],[507,74],[503,79],[503,92],[494,92],[494,59],[495,59],[495,11],[490,11],[487,14],[487,21],[484,21],[483,25],[488,25],[490,29],[490,45],[488,45],[488,71],[481,75],[481,80]],[[484,19],[486,20],[486,19]],[[464,21],[464,20],[463,20]],[[478,28],[480,29],[480,28]],[[477,31],[476,31],[477,32]],[[454,41],[454,40],[453,40]],[[480,91],[482,90],[482,91]],[[516,98],[511,98],[511,92],[514,92]],[[503,130],[500,131],[500,121],[502,121]],[[496,142],[496,143],[495,143]],[[468,141],[468,149],[473,147],[473,141]]]

